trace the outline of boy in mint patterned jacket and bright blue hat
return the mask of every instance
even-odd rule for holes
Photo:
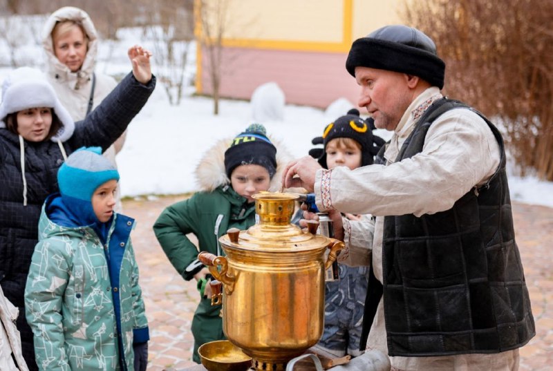
[[[119,173],[101,153],[72,153],[42,207],[25,288],[39,370],[146,370],[134,220],[113,211]]]

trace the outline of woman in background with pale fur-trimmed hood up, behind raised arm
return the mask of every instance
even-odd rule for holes
[[[82,9],[59,8],[44,24],[42,46],[48,82],[71,118],[75,122],[83,120],[117,85],[113,77],[94,70],[98,48],[94,23]],[[122,149],[124,140],[125,133],[104,152],[115,166],[115,155]]]

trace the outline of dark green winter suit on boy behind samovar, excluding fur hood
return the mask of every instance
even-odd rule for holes
[[[191,198],[167,207],[156,220],[153,230],[177,272],[185,280],[191,280],[203,265],[195,264],[198,249],[187,234],[196,235],[200,251],[224,255],[218,238],[229,228],[243,230],[254,223],[255,204],[247,204],[247,200],[236,194],[232,187],[222,186],[212,192],[195,193]],[[221,305],[212,306],[211,298],[200,298],[191,328],[194,335],[193,359],[198,363],[200,345],[225,339],[220,312]]]

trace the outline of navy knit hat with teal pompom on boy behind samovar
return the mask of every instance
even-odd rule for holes
[[[248,126],[243,133],[236,135],[225,151],[225,171],[229,179],[236,167],[250,164],[267,169],[270,178],[277,172],[277,148],[261,124]]]

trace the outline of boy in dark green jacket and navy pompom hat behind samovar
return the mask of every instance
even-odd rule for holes
[[[193,360],[200,363],[198,348],[209,341],[225,339],[221,306],[212,306],[209,270],[198,261],[198,249],[187,234],[198,238],[200,251],[221,255],[218,238],[229,228],[247,229],[254,225],[252,196],[261,191],[276,191],[279,172],[287,159],[269,140],[265,127],[250,125],[232,140],[219,141],[206,152],[196,167],[202,191],[167,207],[153,225],[153,231],[167,258],[185,278],[198,281],[200,304],[192,320]],[[279,166],[281,165],[281,166]],[[274,181],[273,181],[274,180]]]

